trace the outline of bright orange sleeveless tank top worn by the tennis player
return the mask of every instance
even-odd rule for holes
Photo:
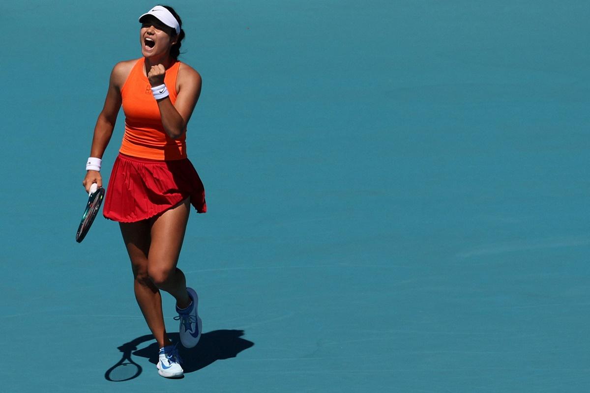
[[[166,70],[164,83],[172,104],[176,102],[176,77],[180,62]],[[137,60],[121,88],[125,133],[120,153],[152,160],[181,160],[186,158],[186,135],[172,139],[164,131],[158,103],[153,98],[148,77],[143,74],[144,58]]]

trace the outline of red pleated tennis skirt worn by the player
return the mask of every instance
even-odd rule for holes
[[[207,212],[203,183],[188,158],[158,161],[119,154],[106,189],[103,214],[109,220],[149,219],[187,197],[198,213]]]

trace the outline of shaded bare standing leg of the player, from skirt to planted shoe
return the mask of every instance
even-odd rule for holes
[[[170,345],[162,315],[162,296],[148,276],[148,254],[150,249],[150,223],[147,220],[136,223],[120,223],[123,240],[131,259],[133,288],[146,322],[158,342],[159,348]]]

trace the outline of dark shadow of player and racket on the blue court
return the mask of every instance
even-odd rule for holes
[[[217,360],[235,358],[244,349],[253,346],[253,342],[241,338],[243,335],[244,331],[242,330],[216,330],[202,333],[199,344],[194,348],[187,349],[182,344],[178,344],[178,352],[183,361],[182,368],[185,374],[207,367]],[[168,337],[175,343],[180,342],[178,333],[168,333]],[[152,335],[144,335],[119,346],[117,349],[123,352],[123,358],[119,363],[104,373],[104,378],[108,381],[118,382],[129,381],[129,379],[139,377],[142,374],[142,368],[133,361],[132,355],[148,358],[149,362],[154,365],[153,372],[156,372],[155,365],[158,363],[158,343],[153,342],[145,348],[137,349],[137,346],[143,342],[152,340]],[[131,367],[130,365],[135,366]],[[120,377],[121,369],[129,370],[126,372],[126,376]],[[115,377],[115,375],[117,376]]]

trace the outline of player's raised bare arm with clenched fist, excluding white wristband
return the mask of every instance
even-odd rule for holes
[[[150,84],[152,86],[162,84],[164,75],[165,70],[162,65],[152,67],[148,74]],[[201,75],[188,65],[181,64],[176,83],[178,84],[178,95],[174,105],[172,105],[170,97],[158,100],[162,126],[172,139],[178,139],[186,133],[186,124],[188,124],[196,101],[199,100],[201,94]]]

